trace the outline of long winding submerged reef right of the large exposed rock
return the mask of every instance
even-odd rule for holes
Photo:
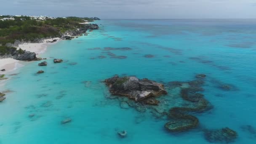
[[[173,107],[169,111],[170,121],[165,124],[165,128],[168,131],[180,132],[187,131],[199,126],[199,120],[193,115],[189,115],[188,112],[203,112],[212,108],[212,105],[204,98],[202,93],[204,91],[201,87],[204,83],[202,80],[206,75],[196,75],[197,80],[190,82],[170,82],[168,85],[171,88],[179,87],[180,96],[184,101],[192,103],[192,107]]]

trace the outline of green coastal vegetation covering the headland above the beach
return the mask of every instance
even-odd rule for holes
[[[7,16],[2,16],[7,17]],[[67,17],[36,20],[28,16],[13,17],[15,20],[0,21],[0,44],[14,43],[15,40],[34,41],[38,38],[58,37],[67,30],[82,27],[90,18]]]

